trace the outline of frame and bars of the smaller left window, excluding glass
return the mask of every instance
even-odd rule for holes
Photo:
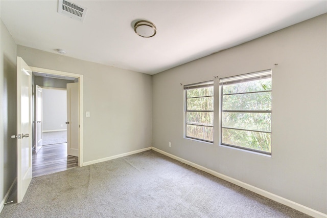
[[[193,84],[189,84],[189,85],[184,85],[184,138],[199,140],[199,141],[203,141],[203,142],[214,143],[214,135],[215,135],[214,123],[213,123],[213,125],[191,124],[191,123],[188,123],[188,121],[187,121],[187,115],[186,115],[188,112],[210,112],[210,113],[213,113],[214,114],[214,103],[213,103],[213,110],[212,111],[193,111],[193,110],[188,110],[188,108],[187,108],[187,105],[188,105],[187,104],[187,100],[189,99],[187,97],[187,90],[190,90],[190,89],[199,89],[199,88],[206,88],[206,87],[210,87],[210,86],[213,86],[214,87],[214,80],[206,81],[206,82],[193,83]],[[212,95],[212,96],[205,96],[205,97],[213,97],[213,98],[215,98],[214,95]],[[212,127],[213,128],[213,141],[205,140],[205,139],[201,139],[201,138],[195,138],[195,137],[191,137],[191,136],[187,136],[187,125]]]

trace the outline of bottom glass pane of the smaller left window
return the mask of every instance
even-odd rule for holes
[[[214,141],[214,127],[186,125],[186,137]]]

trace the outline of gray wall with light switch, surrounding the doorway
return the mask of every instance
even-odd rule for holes
[[[151,146],[150,75],[24,46],[17,55],[32,67],[84,75],[84,162]]]

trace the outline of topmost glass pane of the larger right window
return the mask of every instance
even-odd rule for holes
[[[223,95],[271,90],[271,78],[223,85]]]

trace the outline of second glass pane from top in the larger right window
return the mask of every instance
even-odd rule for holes
[[[271,111],[271,92],[223,96],[223,111]]]

